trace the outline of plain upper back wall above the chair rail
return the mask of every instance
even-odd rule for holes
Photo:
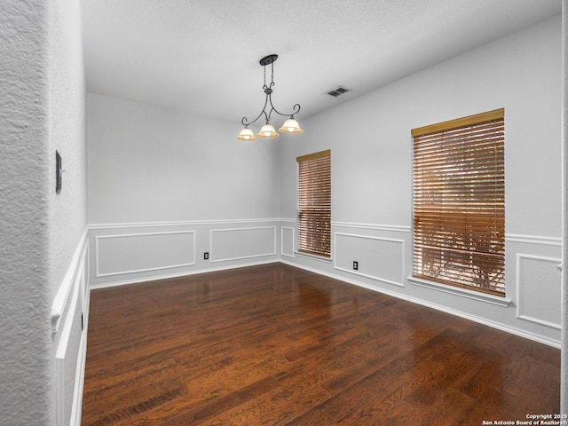
[[[91,224],[278,217],[277,142],[236,140],[239,122],[95,94],[87,111]]]

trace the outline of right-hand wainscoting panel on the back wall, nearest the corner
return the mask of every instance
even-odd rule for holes
[[[276,226],[213,229],[211,263],[276,255]]]

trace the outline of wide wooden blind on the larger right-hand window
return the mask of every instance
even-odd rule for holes
[[[412,136],[414,276],[505,296],[504,110]]]

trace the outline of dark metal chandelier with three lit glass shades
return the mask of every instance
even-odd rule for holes
[[[264,126],[258,131],[258,133],[256,133],[256,136],[258,138],[265,138],[265,139],[271,139],[271,138],[278,138],[280,135],[277,133],[276,130],[274,130],[274,127],[272,127],[272,124],[270,123],[270,117],[272,112],[275,112],[276,114],[282,115],[283,117],[289,117],[288,120],[286,120],[286,122],[284,122],[284,124],[282,124],[282,127],[280,127],[280,131],[282,133],[291,133],[291,134],[295,134],[295,133],[302,133],[304,132],[304,130],[300,129],[300,125],[298,124],[298,122],[296,122],[296,119],[294,118],[294,115],[298,114],[300,112],[300,105],[296,104],[294,106],[294,109],[292,111],[292,114],[282,114],[280,113],[279,110],[277,110],[273,105],[272,105],[272,86],[274,85],[274,61],[278,59],[278,55],[268,55],[265,56],[263,59],[260,59],[259,63],[260,65],[262,65],[264,67],[264,93],[266,94],[266,99],[264,99],[264,108],[263,110],[260,112],[260,114],[258,114],[258,116],[252,121],[252,122],[248,122],[247,117],[242,117],[241,123],[244,127],[243,130],[241,130],[241,133],[239,133],[239,136],[237,136],[237,139],[239,140],[255,140],[255,134],[252,132],[252,130],[248,129],[248,126],[250,124],[255,123],[260,117],[262,117],[264,115]],[[271,67],[271,82],[270,85],[266,85],[266,66],[270,65]],[[266,107],[270,105],[270,110],[268,111],[268,113],[266,112]]]

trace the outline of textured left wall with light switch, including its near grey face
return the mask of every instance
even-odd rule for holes
[[[54,421],[51,301],[86,228],[80,22],[73,0],[0,3],[0,424],[8,426]],[[66,170],[59,195],[56,149]]]

